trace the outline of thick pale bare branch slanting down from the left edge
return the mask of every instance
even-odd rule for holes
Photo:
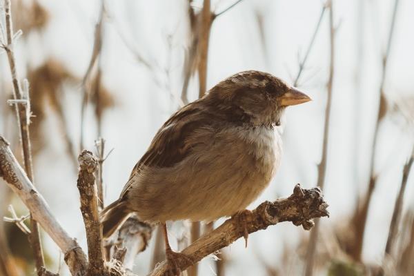
[[[79,247],[75,239],[61,227],[57,219],[52,215],[45,199],[34,188],[32,182],[24,172],[12,154],[8,142],[0,136],[0,177],[7,182],[26,207],[32,217],[39,222],[43,229],[65,254],[65,262],[68,264],[72,275],[86,275],[86,255]]]

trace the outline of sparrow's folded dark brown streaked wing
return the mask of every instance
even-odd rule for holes
[[[132,169],[121,197],[124,197],[133,183],[132,177],[139,174],[143,166],[168,168],[175,166],[189,154],[196,144],[203,143],[199,139],[189,139],[201,128],[208,128],[212,124],[211,116],[206,116],[205,110],[198,107],[197,101],[181,108],[166,121],[158,130],[154,139],[144,154]]]

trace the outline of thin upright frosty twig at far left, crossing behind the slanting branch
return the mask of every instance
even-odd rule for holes
[[[19,78],[17,76],[16,59],[14,58],[14,42],[19,37],[21,32],[14,34],[12,26],[12,11],[10,0],[4,0],[4,10],[6,17],[6,40],[1,41],[3,44],[1,47],[6,50],[8,63],[10,66],[10,72],[12,74],[13,83],[13,97],[14,104],[16,106],[17,121],[20,129],[21,147],[23,149],[23,161],[26,173],[30,181],[33,182],[33,166],[32,166],[32,150],[30,145],[30,99],[29,99],[29,88],[26,86],[25,90],[21,89]],[[27,82],[28,84],[28,82]],[[20,102],[19,102],[20,101]],[[37,272],[42,266],[44,266],[43,252],[41,248],[39,226],[36,221],[30,219],[31,233],[29,241],[32,246],[34,262],[36,264]]]

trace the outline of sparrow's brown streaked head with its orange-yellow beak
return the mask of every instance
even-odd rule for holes
[[[304,92],[266,72],[239,72],[211,88],[206,99],[255,126],[279,125],[286,106],[311,101]]]

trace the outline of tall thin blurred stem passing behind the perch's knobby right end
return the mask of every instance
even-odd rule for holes
[[[335,66],[335,27],[333,26],[333,1],[328,0],[326,6],[329,8],[329,44],[330,44],[330,64],[329,64],[329,78],[326,84],[327,100],[325,109],[325,123],[324,123],[324,138],[322,140],[322,159],[317,166],[317,186],[324,188],[326,175],[326,159],[328,157],[328,140],[329,140],[329,121],[331,120],[331,104],[332,104],[332,88],[333,75]],[[323,10],[322,14],[323,15]],[[316,245],[319,236],[319,220],[315,220],[315,228],[311,231],[309,237],[308,252],[306,253],[306,270],[305,275],[313,275],[313,266],[315,263]]]

